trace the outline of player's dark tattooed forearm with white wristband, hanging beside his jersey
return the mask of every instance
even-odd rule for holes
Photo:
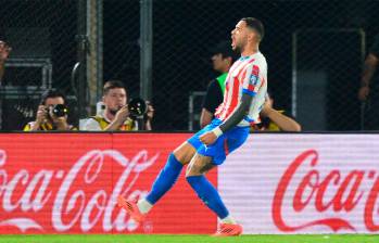
[[[227,120],[225,120],[222,125],[219,125],[218,128],[222,130],[222,133],[236,127],[243,119],[243,117],[248,115],[252,100],[253,100],[252,95],[247,93],[242,94],[241,103],[237,107],[236,112]],[[217,137],[219,136],[217,135],[217,131],[216,131],[216,136]]]

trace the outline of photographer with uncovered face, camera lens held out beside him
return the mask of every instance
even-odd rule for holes
[[[84,130],[89,131],[136,131],[151,130],[151,120],[154,116],[154,108],[147,102],[142,104],[147,112],[142,117],[143,122],[138,123],[137,117],[130,114],[126,88],[118,80],[105,82],[103,87],[103,103],[105,110],[103,115],[89,117],[84,125]],[[142,126],[141,126],[142,125]],[[143,128],[144,127],[144,128]]]

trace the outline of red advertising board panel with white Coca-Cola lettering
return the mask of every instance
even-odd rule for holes
[[[143,196],[189,133],[0,135],[0,233],[212,233],[216,216],[185,180],[136,223],[116,205]],[[209,175],[217,183],[217,171]]]

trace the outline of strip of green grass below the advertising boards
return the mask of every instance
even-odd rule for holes
[[[213,238],[207,235],[0,235],[1,243],[378,243],[379,235],[242,235]]]

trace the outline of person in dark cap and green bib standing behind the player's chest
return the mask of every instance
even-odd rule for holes
[[[238,59],[238,55],[232,51],[230,41],[219,42],[212,50],[213,69],[220,73],[220,75],[211,80],[205,98],[203,100],[203,107],[200,115],[200,127],[203,128],[209,125],[214,118],[214,113],[218,105],[223,102],[225,79],[228,72]]]

